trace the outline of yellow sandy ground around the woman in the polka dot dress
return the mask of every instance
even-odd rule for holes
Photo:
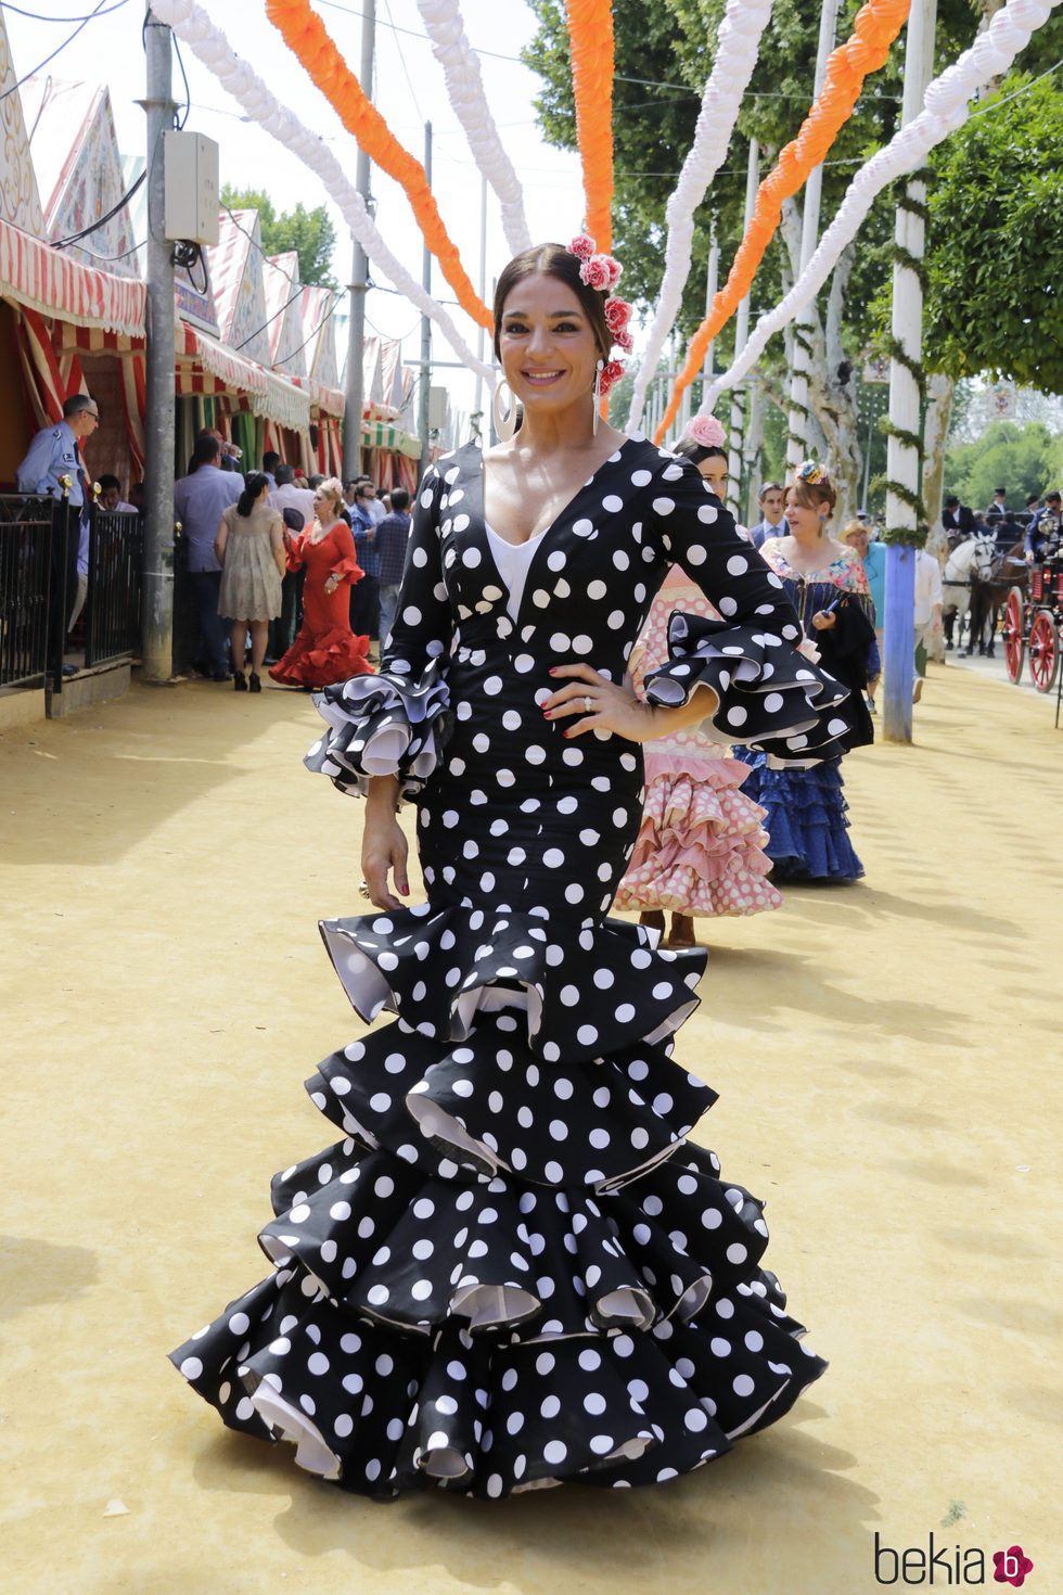
[[[344,1496],[166,1361],[266,1273],[269,1176],[333,1139],[301,1081],[362,1032],[316,930],[362,906],[362,809],[303,769],[317,726],[139,684],[0,738],[3,1590],[861,1595],[929,1587],[931,1534],[939,1589],[974,1552],[1006,1587],[1014,1544],[1063,1587],[1045,700],[932,668],[915,745],[846,761],[867,879],[708,925],[696,1134],[768,1199],[826,1378],[688,1479],[502,1504]]]

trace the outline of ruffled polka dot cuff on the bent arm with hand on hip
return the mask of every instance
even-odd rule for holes
[[[668,664],[647,673],[645,699],[676,708],[700,686],[720,700],[720,740],[765,753],[770,766],[805,769],[845,753],[848,689],[773,632],[673,614]]]

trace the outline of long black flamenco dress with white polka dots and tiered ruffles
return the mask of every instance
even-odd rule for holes
[[[540,703],[555,665],[623,676],[673,563],[725,620],[673,616],[650,699],[708,683],[727,740],[803,764],[837,751],[843,689],[692,466],[626,440],[515,616],[481,482],[472,447],[426,475],[381,675],[320,695],[308,756],[418,804],[429,901],[322,924],[390,1022],[308,1081],[336,1139],[274,1179],[273,1273],[174,1353],[226,1424],[373,1496],[671,1479],[824,1367],[762,1268],[762,1204],[685,1139],[714,1101],[671,1056],[704,952],[607,919],[641,750]]]

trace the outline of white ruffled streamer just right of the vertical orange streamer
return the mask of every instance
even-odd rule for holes
[[[727,155],[738,107],[757,64],[760,35],[768,26],[770,16],[771,0],[727,0],[727,11],[717,35],[716,61],[704,86],[693,144],[682,163],[674,193],[665,207],[668,223],[665,276],[642,364],[634,378],[628,432],[639,429],[647,389],[657,372],[665,340],[679,314],[682,290],[690,274],[695,211],[704,199],[706,190]]]

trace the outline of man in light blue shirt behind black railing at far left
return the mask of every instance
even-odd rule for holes
[[[46,426],[37,434],[16,474],[19,493],[40,493],[56,499],[62,498],[59,478],[70,477],[65,538],[53,538],[51,550],[49,649],[62,648],[62,638],[76,620],[88,589],[89,485],[81,461],[81,440],[91,437],[99,424],[96,399],[72,394],[62,407],[59,426]],[[65,616],[59,612],[64,571]]]

